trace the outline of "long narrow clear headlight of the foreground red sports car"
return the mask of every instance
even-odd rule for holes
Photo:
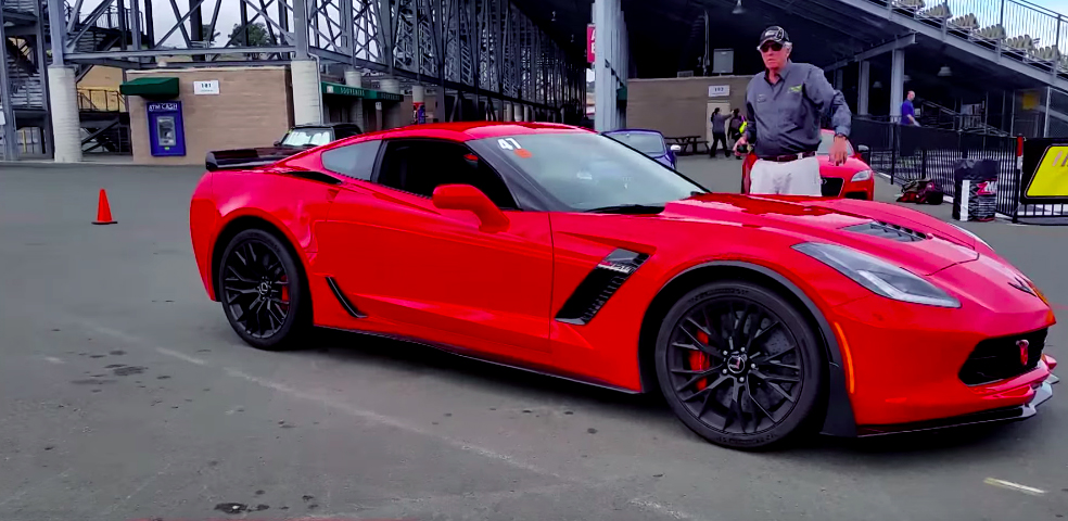
[[[887,298],[939,307],[961,307],[961,302],[930,282],[885,260],[856,250],[804,242],[794,250],[804,253]]]

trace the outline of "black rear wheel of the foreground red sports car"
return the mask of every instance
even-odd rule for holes
[[[312,300],[297,260],[274,234],[244,230],[219,264],[219,301],[233,331],[249,345],[287,351],[312,325]]]

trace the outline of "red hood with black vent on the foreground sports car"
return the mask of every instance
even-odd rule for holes
[[[919,275],[979,258],[975,241],[952,225],[888,203],[716,193],[669,203],[659,215],[761,228],[798,242],[841,244]]]

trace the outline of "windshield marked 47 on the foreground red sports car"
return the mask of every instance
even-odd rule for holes
[[[663,205],[708,192],[678,173],[597,134],[542,134],[469,142],[503,158],[575,211]]]

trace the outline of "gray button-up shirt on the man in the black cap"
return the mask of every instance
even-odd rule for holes
[[[787,62],[774,85],[766,74],[754,76],[746,89],[746,140],[758,157],[815,152],[823,114],[830,115],[836,134],[849,136],[852,113],[823,69]]]

